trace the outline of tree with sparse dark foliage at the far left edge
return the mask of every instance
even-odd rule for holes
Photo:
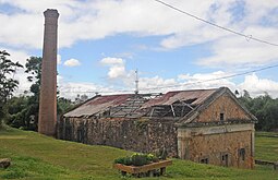
[[[19,86],[19,81],[13,79],[17,68],[23,68],[19,62],[9,59],[10,53],[5,50],[0,51],[0,118],[5,116],[4,105]],[[0,124],[2,119],[0,119]]]

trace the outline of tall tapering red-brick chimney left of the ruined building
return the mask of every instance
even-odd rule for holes
[[[48,9],[45,15],[45,34],[39,96],[38,132],[56,135],[57,123],[57,10]]]

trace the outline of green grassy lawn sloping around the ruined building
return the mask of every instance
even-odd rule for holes
[[[263,146],[268,145],[264,139],[278,144],[278,139],[273,142],[259,136],[257,151],[265,151]],[[257,155],[276,159],[276,147],[271,147],[267,156],[264,152]],[[111,168],[114,158],[129,154],[131,152],[119,148],[84,145],[53,140],[35,132],[8,129],[0,131],[0,158],[10,157],[12,166],[5,170],[0,169],[0,179],[133,179],[123,178]],[[278,172],[263,166],[257,166],[255,170],[243,170],[173,159],[173,166],[160,179],[278,180]]]

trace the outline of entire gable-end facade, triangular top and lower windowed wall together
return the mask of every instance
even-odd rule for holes
[[[220,120],[220,113],[223,120]],[[254,167],[254,124],[249,113],[227,94],[215,99],[192,122],[192,128],[180,128],[179,156],[196,163],[239,168]],[[235,124],[227,124],[229,121]],[[204,125],[203,122],[221,122]],[[183,130],[182,130],[183,129]]]

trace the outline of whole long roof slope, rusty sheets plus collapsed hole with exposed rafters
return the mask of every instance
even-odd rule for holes
[[[95,96],[64,117],[181,118],[202,105],[218,88]]]

